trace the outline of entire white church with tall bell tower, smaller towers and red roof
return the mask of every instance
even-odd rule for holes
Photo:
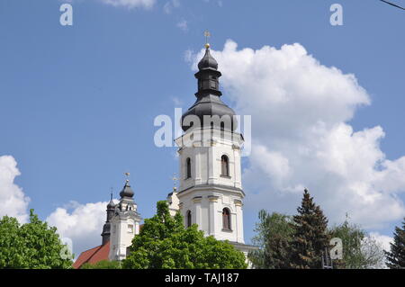
[[[184,226],[197,224],[205,236],[229,243],[245,255],[255,247],[245,244],[241,176],[242,134],[236,132],[235,112],[220,100],[217,61],[210,45],[198,63],[196,101],[183,114],[184,133],[175,139],[179,155],[179,187],[167,195],[172,215],[180,211]],[[141,217],[127,180],[120,202],[107,205],[102,245],[83,252],[74,267],[97,261],[122,260],[139,234]]]

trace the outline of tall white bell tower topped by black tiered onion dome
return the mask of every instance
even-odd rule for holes
[[[244,140],[235,131],[235,112],[220,100],[218,63],[210,45],[205,48],[194,75],[197,99],[182,116],[184,134],[175,139],[180,171],[175,196],[186,227],[196,223],[206,236],[229,240],[247,252],[240,162]]]

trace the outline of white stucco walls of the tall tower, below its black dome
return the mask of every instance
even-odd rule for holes
[[[241,145],[238,133],[215,129],[187,130],[175,139],[179,147],[179,192],[175,194],[178,210],[188,224],[198,224],[206,236],[244,244],[243,198],[241,184]],[[228,175],[223,175],[221,157],[228,158]],[[190,158],[191,176],[187,175]],[[173,198],[173,196],[172,196]],[[172,204],[171,209],[174,209]],[[229,211],[229,227],[224,228],[224,209]]]

